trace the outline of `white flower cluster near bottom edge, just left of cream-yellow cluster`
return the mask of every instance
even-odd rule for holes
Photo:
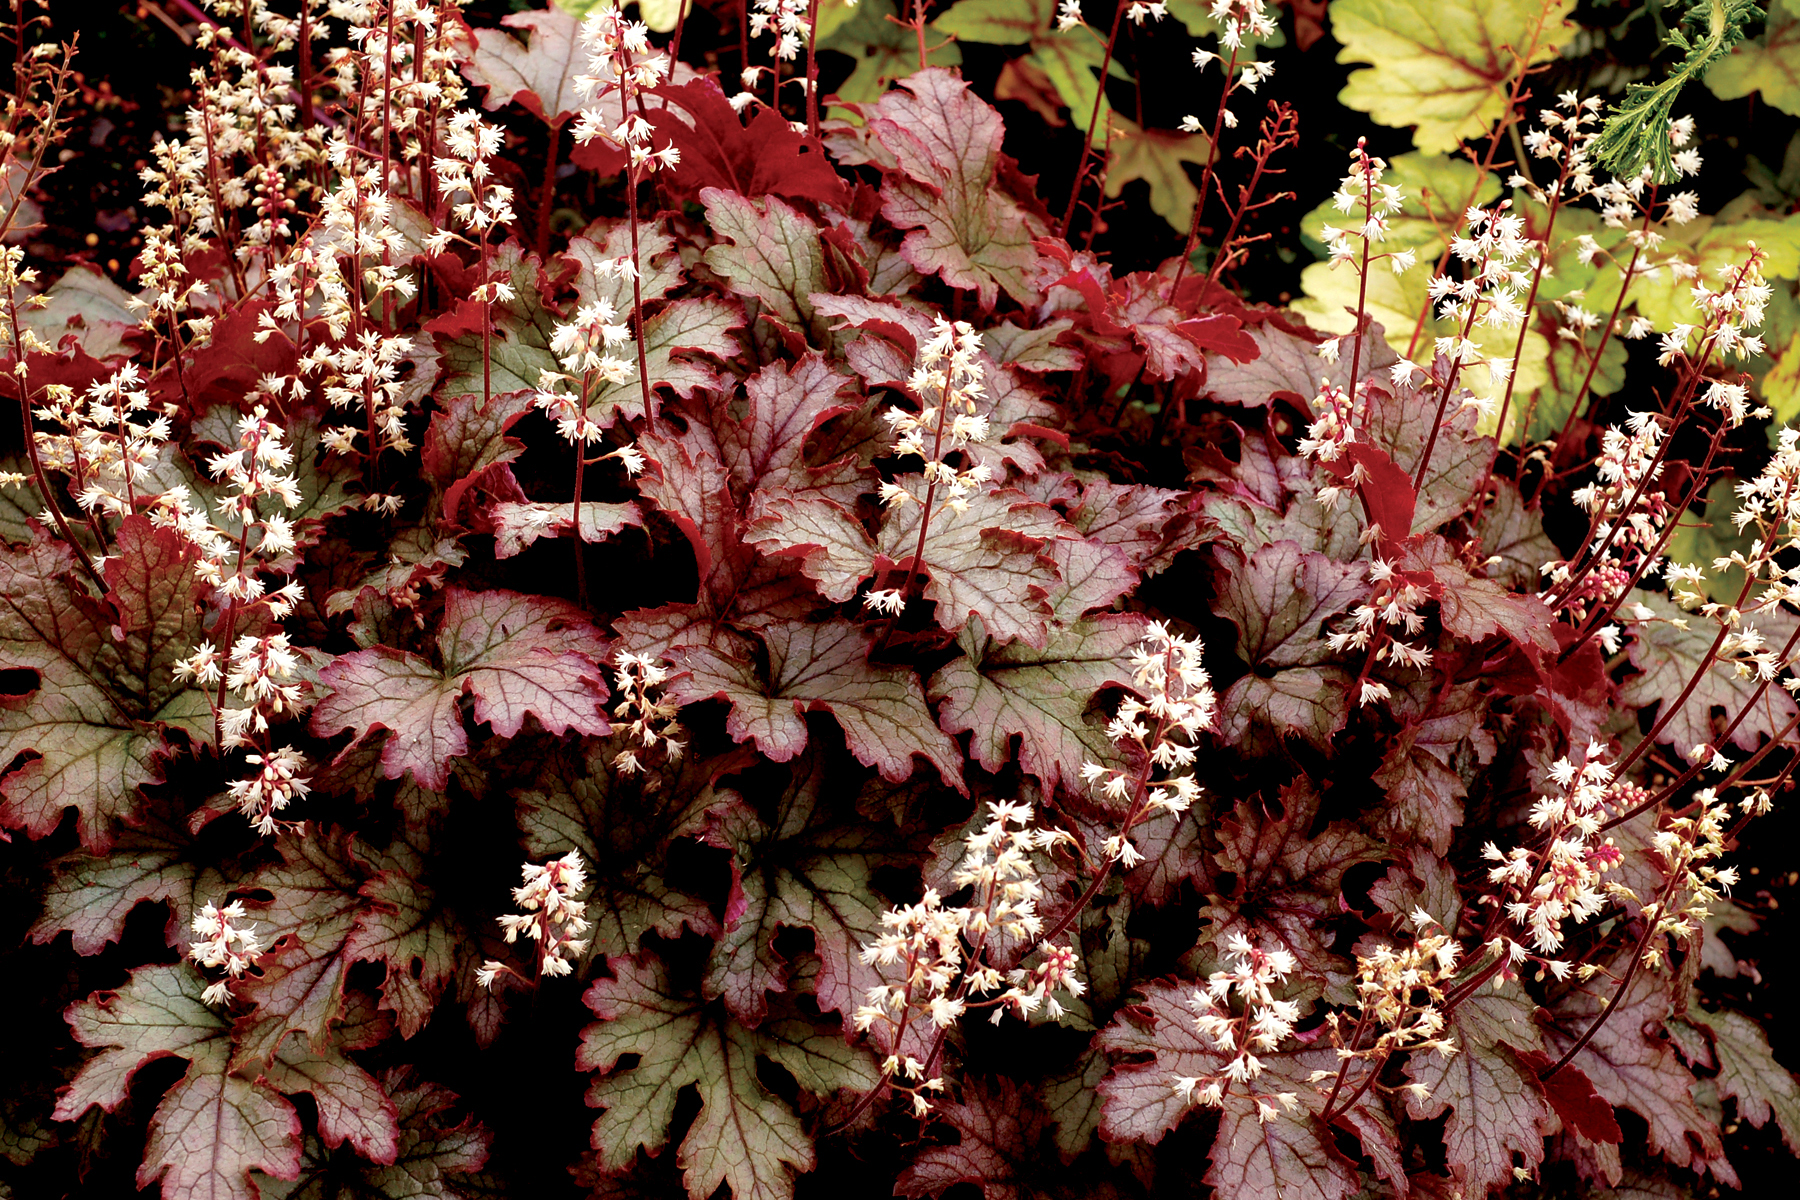
[[[1296,1092],[1264,1094],[1256,1088],[1264,1070],[1260,1056],[1280,1047],[1300,1020],[1300,1004],[1274,999],[1274,988],[1294,972],[1294,955],[1260,950],[1244,934],[1231,934],[1226,954],[1237,961],[1208,975],[1206,986],[1195,988],[1188,999],[1193,1027],[1226,1063],[1204,1076],[1175,1078],[1172,1087],[1186,1105],[1219,1108],[1226,1094],[1242,1085],[1256,1101],[1256,1115],[1273,1121],[1283,1110],[1300,1106]]]

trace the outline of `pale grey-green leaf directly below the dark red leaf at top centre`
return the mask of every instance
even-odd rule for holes
[[[779,117],[776,121],[787,126]],[[700,200],[707,223],[720,237],[707,248],[706,264],[733,291],[754,297],[765,318],[781,322],[815,347],[828,347],[830,326],[812,302],[815,291],[830,290],[819,225],[776,196],[751,200],[707,187]]]

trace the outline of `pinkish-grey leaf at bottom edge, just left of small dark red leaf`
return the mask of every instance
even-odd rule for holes
[[[1406,1076],[1429,1088],[1424,1099],[1409,1096],[1406,1110],[1418,1121],[1451,1110],[1444,1150],[1471,1195],[1510,1178],[1514,1155],[1526,1169],[1543,1162],[1544,1135],[1555,1128],[1537,1074],[1519,1058],[1543,1051],[1532,1007],[1517,988],[1481,988],[1449,1013],[1454,1054],[1415,1051],[1406,1060]]]

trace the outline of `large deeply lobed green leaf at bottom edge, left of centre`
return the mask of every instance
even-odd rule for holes
[[[785,1067],[801,1088],[832,1096],[873,1088],[880,1076],[864,1051],[799,1018],[751,1029],[716,1004],[671,988],[655,957],[610,959],[614,979],[596,981],[583,1000],[599,1016],[581,1031],[576,1065],[598,1070],[587,1103],[601,1166],[617,1171],[637,1150],[657,1153],[670,1137],[682,1088],[700,1112],[675,1153],[688,1195],[706,1200],[720,1184],[734,1200],[792,1200],[794,1173],[810,1171],[812,1137],[758,1079],[758,1058]],[[630,1054],[635,1065],[619,1067]]]

